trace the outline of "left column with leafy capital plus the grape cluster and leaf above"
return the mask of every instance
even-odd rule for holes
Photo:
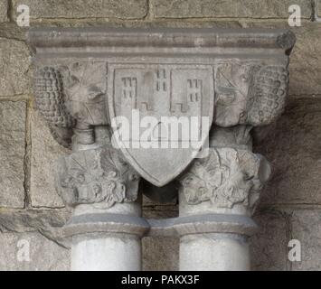
[[[105,75],[106,65],[95,62],[41,66],[35,102],[52,136],[71,148],[53,170],[56,189],[72,209],[63,228],[71,240],[71,270],[135,271],[149,225],[140,218],[140,177],[111,144]]]

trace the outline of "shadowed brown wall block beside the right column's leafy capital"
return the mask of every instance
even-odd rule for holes
[[[291,99],[275,129],[255,150],[272,164],[262,202],[321,202],[321,99]]]

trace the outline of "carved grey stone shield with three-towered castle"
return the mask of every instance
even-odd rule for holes
[[[123,117],[131,126],[129,134],[115,138],[127,161],[156,186],[174,180],[207,139],[214,106],[212,66],[109,63],[108,75],[114,132],[124,128]]]

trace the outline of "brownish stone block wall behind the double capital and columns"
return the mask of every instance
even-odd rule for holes
[[[288,106],[255,151],[273,164],[251,238],[253,270],[321,269],[321,0],[0,0],[0,270],[67,270],[69,245],[60,228],[70,212],[52,182],[52,162],[68,151],[56,144],[33,109],[27,28],[18,5],[29,5],[32,26],[287,28],[297,35],[290,59]],[[288,26],[299,5],[302,26]],[[177,215],[175,203],[144,199],[144,215]],[[302,245],[288,260],[288,241]],[[30,246],[26,260],[19,249]],[[144,239],[144,268],[175,270],[178,240]]]

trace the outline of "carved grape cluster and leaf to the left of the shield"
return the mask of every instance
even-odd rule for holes
[[[40,67],[34,76],[35,103],[58,143],[69,147],[72,128],[107,125],[105,62]]]

